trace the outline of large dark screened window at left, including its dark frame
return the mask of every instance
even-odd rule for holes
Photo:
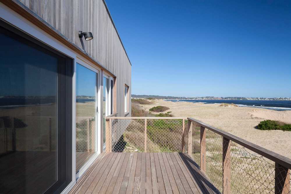
[[[72,181],[73,60],[0,20],[0,191]]]

